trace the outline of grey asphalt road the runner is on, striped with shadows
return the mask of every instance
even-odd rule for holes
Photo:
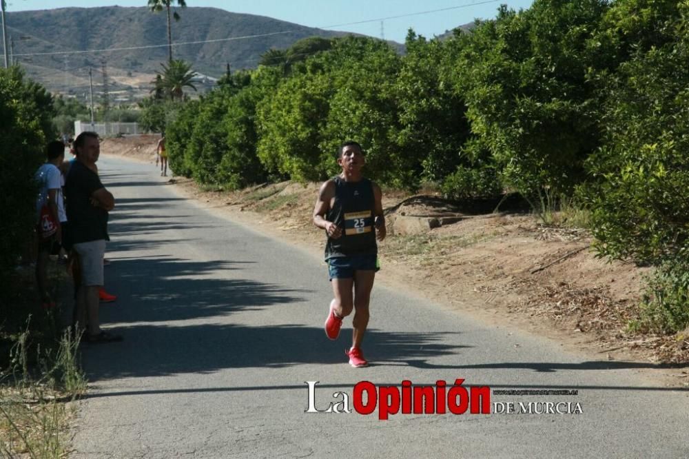
[[[105,274],[119,296],[101,318],[125,340],[83,346],[90,389],[72,457],[689,457],[689,391],[648,378],[652,365],[568,354],[382,283],[363,347],[371,366],[353,369],[351,320],[334,342],[322,329],[331,287],[319,258],[185,200],[152,165],[101,157],[99,167],[116,196]],[[445,380],[449,391],[457,378],[578,394],[493,392],[491,411],[514,402],[514,414],[354,411],[361,381]],[[305,381],[320,382],[316,409],[345,392],[353,412],[305,413]],[[524,414],[519,402],[578,402],[582,413]]]

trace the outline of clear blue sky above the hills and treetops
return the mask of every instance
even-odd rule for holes
[[[174,1],[174,0],[173,0]],[[47,10],[80,6],[145,6],[146,0],[6,0],[8,11]],[[187,6],[211,6],[232,12],[260,14],[302,26],[346,30],[373,37],[381,36],[380,21],[331,27],[342,23],[369,21],[404,14],[442,10],[427,14],[414,14],[383,21],[384,37],[404,42],[407,29],[426,37],[442,34],[445,30],[472,22],[475,18],[491,19],[501,3],[510,8],[528,8],[533,0],[187,0]],[[461,8],[456,8],[461,7]],[[183,14],[183,13],[182,13]]]

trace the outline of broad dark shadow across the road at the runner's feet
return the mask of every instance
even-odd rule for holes
[[[119,356],[92,347],[89,380],[205,374],[227,368],[282,368],[300,364],[343,365],[349,336],[330,342],[322,329],[302,325],[132,325],[120,329]],[[370,339],[369,339],[370,338]],[[371,332],[367,354],[379,358],[430,358],[454,354],[463,346],[433,344],[434,334]],[[375,342],[375,343],[373,343]],[[108,356],[99,363],[98,354]]]

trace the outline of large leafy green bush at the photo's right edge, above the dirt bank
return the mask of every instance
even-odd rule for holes
[[[608,79],[606,144],[588,161],[597,178],[588,192],[599,252],[662,263],[689,246],[689,41],[639,50]]]

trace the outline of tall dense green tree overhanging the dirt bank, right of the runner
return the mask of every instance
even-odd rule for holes
[[[506,185],[524,194],[545,187],[569,193],[585,179],[584,160],[599,146],[587,47],[607,3],[501,7],[495,21],[457,38],[453,81],[471,132],[489,148]]]

